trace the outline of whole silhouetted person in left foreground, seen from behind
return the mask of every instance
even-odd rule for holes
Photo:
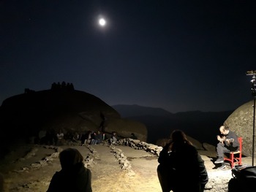
[[[83,164],[83,156],[74,148],[59,153],[61,171],[50,181],[47,192],[74,191],[91,192],[91,170]]]

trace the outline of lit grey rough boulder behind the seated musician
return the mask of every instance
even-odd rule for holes
[[[224,125],[235,131],[238,137],[243,137],[242,150],[243,155],[246,156],[252,156],[253,114],[252,100],[238,107],[224,123]]]

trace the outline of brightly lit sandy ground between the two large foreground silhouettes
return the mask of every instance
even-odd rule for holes
[[[104,191],[154,191],[160,192],[161,187],[157,178],[157,156],[151,155],[143,150],[133,150],[127,146],[115,146],[120,149],[131,163],[131,172],[121,169],[118,160],[114,154],[110,152],[110,147],[105,149],[105,146],[93,146],[100,154],[100,160],[97,165],[91,168],[95,175],[101,171],[101,176],[93,182],[95,191],[102,190],[102,183],[105,185]],[[106,153],[109,150],[110,153]],[[105,152],[105,153],[104,153]],[[110,164],[110,162],[112,162]],[[108,166],[106,166],[108,165]],[[102,170],[101,170],[102,169]]]

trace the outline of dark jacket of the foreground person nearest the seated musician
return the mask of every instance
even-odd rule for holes
[[[176,150],[168,153],[170,143],[159,153],[158,162],[172,172],[170,183],[178,188],[176,191],[200,191],[208,183],[206,166],[196,148],[187,143],[176,145]]]

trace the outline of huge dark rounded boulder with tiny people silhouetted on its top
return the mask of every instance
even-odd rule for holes
[[[56,85],[45,91],[26,89],[23,94],[5,99],[0,107],[0,126],[1,141],[37,137],[40,130],[57,132],[61,128],[64,133],[83,134],[102,126],[122,137],[134,132],[143,141],[147,138],[143,123],[122,120],[116,110],[90,93]]]

